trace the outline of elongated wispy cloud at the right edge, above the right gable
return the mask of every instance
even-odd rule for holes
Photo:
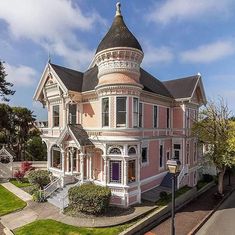
[[[210,63],[235,53],[232,41],[217,41],[201,45],[196,49],[184,51],[180,54],[181,61],[189,63]]]

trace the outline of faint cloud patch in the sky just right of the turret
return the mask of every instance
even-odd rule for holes
[[[168,63],[174,59],[174,54],[171,49],[166,46],[154,47],[150,43],[145,43],[144,46],[144,60],[145,65],[153,65],[159,63]]]

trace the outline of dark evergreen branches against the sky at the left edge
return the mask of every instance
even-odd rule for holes
[[[2,100],[4,101],[9,101],[9,99],[6,96],[14,95],[15,91],[11,90],[13,84],[6,81],[7,74],[5,72],[3,63],[4,62],[0,60],[0,97],[2,97]]]

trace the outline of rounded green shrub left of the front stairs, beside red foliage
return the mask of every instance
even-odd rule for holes
[[[28,180],[42,189],[50,183],[50,173],[46,170],[33,170],[28,173]]]

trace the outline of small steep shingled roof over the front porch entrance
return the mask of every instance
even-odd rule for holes
[[[93,143],[89,140],[89,136],[87,132],[83,129],[82,125],[69,124],[68,127],[72,131],[81,146],[93,145]]]

